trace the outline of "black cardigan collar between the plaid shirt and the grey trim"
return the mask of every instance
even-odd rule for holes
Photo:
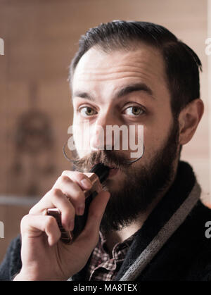
[[[175,211],[181,206],[188,194],[190,194],[196,182],[196,177],[193,173],[191,165],[184,161],[179,161],[177,175],[175,180],[162,197],[158,205],[153,209],[146,221],[143,223],[138,232],[135,234],[134,241],[127,252],[127,255],[122,263],[122,267],[115,277],[115,280],[120,280],[124,275],[125,270],[129,265],[146,249],[146,246],[152,241],[153,237],[158,234],[159,230],[165,225],[167,220],[171,218]],[[89,261],[87,262],[87,265]],[[69,280],[84,280],[87,265],[77,274],[73,275]]]

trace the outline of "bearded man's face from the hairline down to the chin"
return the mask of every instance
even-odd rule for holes
[[[146,209],[151,203],[158,189],[170,181],[169,175],[178,151],[178,126],[172,117],[170,92],[161,54],[146,44],[140,44],[139,49],[134,47],[133,51],[116,50],[110,54],[96,48],[89,49],[75,69],[72,102],[73,126],[77,126],[74,139],[79,158],[98,152],[100,127],[106,130],[106,125],[126,125],[129,129],[130,125],[143,125],[143,157],[130,166],[122,165],[122,169],[111,175],[106,183],[111,193],[108,208],[110,211],[114,209],[112,218],[115,219],[115,211],[121,206],[120,215],[125,215],[124,220],[134,218],[137,211]],[[84,120],[89,120],[89,130],[86,130]],[[82,132],[84,137],[81,137]],[[113,145],[114,142],[109,144]],[[106,163],[117,164],[120,159],[134,160],[130,158],[131,152],[120,150],[99,153],[103,159],[108,156],[109,161]],[[160,173],[165,179],[160,177]],[[136,194],[134,202],[131,194]],[[134,208],[137,201],[140,206]],[[132,208],[125,208],[129,203]],[[127,214],[127,211],[130,212]]]

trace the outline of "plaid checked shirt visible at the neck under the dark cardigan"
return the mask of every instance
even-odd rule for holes
[[[136,233],[135,233],[136,234]],[[135,234],[113,247],[112,257],[106,247],[106,239],[100,232],[100,238],[88,267],[87,280],[89,281],[112,281],[120,270],[124,257],[132,244]]]

